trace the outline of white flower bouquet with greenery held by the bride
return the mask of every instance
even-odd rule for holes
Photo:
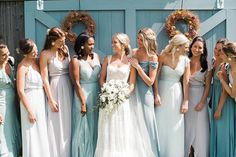
[[[98,107],[111,115],[129,97],[129,84],[122,80],[104,83],[98,96]]]

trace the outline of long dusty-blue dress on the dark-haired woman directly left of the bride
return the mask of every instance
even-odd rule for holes
[[[72,157],[93,157],[97,144],[98,111],[97,96],[99,91],[98,76],[101,70],[99,62],[94,61],[92,68],[85,60],[79,60],[80,85],[83,90],[87,113],[81,115],[81,101],[74,90],[72,106]]]

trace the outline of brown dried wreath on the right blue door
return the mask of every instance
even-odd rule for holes
[[[166,19],[165,28],[169,37],[181,33],[175,26],[177,21],[184,21],[188,25],[188,32],[185,32],[184,35],[190,41],[198,34],[200,28],[199,17],[188,10],[176,10]]]

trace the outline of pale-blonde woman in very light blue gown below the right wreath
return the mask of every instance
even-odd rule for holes
[[[155,81],[155,108],[160,137],[160,156],[184,156],[184,113],[188,111],[189,40],[175,35],[159,57],[159,82]],[[183,79],[181,79],[183,78]],[[159,86],[158,86],[159,85]],[[159,95],[160,94],[160,95]]]

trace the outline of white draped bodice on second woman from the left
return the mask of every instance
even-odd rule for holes
[[[40,73],[29,66],[25,77],[25,90],[35,88],[43,88],[43,81]]]

